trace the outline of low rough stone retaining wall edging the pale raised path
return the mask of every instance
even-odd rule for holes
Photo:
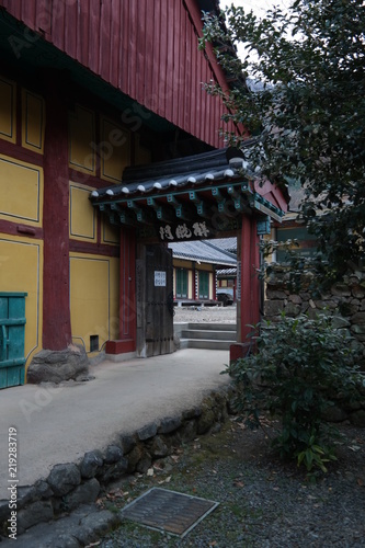
[[[226,387],[214,391],[199,407],[147,424],[135,433],[121,434],[105,449],[91,450],[79,463],[56,465],[46,479],[32,487],[19,487],[18,535],[81,504],[95,502],[110,483],[127,473],[147,472],[153,461],[166,459],[183,442],[219,431],[230,413],[231,390]],[[0,501],[0,541],[2,535],[8,536],[9,515],[9,501]]]

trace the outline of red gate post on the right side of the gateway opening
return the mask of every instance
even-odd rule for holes
[[[260,266],[260,238],[254,217],[242,217],[241,229],[241,342],[252,331],[248,324],[260,321],[260,281],[256,269]]]

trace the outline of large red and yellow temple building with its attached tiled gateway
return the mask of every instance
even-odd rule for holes
[[[217,9],[0,0],[0,386],[43,349],[171,352],[170,241],[239,235],[241,338],[258,318],[255,243],[287,201],[224,149],[225,107],[202,82],[228,82],[198,50],[202,10]]]

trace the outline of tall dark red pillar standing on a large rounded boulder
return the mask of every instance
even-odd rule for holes
[[[69,306],[68,111],[48,80],[44,145],[43,347],[64,350],[71,343]]]

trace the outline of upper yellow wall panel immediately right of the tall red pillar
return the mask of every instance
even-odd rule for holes
[[[84,173],[95,174],[95,115],[76,105],[69,115],[69,163]]]

